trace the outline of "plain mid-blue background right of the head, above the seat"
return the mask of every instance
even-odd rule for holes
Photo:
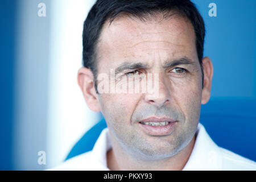
[[[213,97],[255,98],[255,5],[253,0],[193,1],[205,20],[204,55],[214,67]],[[209,3],[217,17],[208,16]]]

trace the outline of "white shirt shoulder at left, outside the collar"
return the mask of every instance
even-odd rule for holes
[[[93,157],[92,151],[85,152],[71,159],[68,159],[59,166],[47,169],[47,171],[86,171],[99,168],[100,164]]]

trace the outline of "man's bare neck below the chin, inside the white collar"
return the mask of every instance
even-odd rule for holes
[[[189,156],[193,150],[196,136],[192,138],[182,150],[177,152],[170,158],[158,159],[158,160],[139,160],[133,158],[133,156],[123,151],[122,147],[117,142],[112,142],[113,147],[107,152],[108,168],[114,171],[131,171],[131,170],[151,170],[151,171],[170,171],[170,170],[182,170],[187,163]],[[112,136],[113,141],[113,136]]]

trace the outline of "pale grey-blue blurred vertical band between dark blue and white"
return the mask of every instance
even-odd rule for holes
[[[15,28],[14,140],[16,170],[41,170],[38,152],[46,151],[50,0],[47,16],[38,16],[40,0],[17,1]]]

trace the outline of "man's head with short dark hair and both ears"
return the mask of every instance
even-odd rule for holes
[[[96,2],[84,23],[79,85],[90,109],[104,115],[115,145],[135,158],[163,159],[191,142],[213,74],[203,59],[204,36],[190,1]],[[157,73],[158,95],[97,93],[97,76],[110,69],[121,73],[117,84],[127,73]],[[166,126],[145,125],[160,121]]]

